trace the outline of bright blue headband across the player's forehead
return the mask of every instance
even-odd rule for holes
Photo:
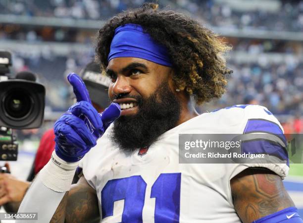
[[[141,25],[131,23],[115,29],[107,61],[116,57],[137,57],[172,66],[167,49],[155,43]]]

